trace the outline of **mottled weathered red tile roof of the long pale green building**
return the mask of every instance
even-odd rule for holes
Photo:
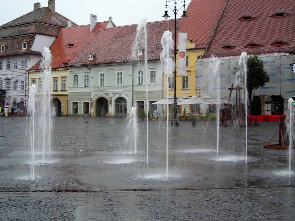
[[[178,23],[179,19],[177,19]],[[137,25],[98,30],[86,47],[70,63],[71,66],[96,65],[130,61]],[[174,19],[147,23],[148,60],[159,60],[161,38],[166,30],[174,30]],[[95,55],[89,60],[89,55]]]

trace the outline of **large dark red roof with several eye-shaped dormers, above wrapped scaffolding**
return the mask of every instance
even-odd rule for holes
[[[295,4],[291,2],[228,0],[206,56],[295,52]],[[277,17],[277,13],[285,14]]]

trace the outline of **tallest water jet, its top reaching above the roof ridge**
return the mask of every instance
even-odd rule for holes
[[[145,113],[148,114],[149,111],[149,103],[148,103],[148,34],[146,28],[147,19],[143,18],[137,25],[136,29],[136,36],[133,42],[132,47],[132,60],[139,60],[140,56],[138,56],[139,50],[143,50],[143,57],[144,57],[144,70],[146,75],[146,111]],[[148,164],[148,118],[146,118],[146,127],[147,127],[147,164]]]

